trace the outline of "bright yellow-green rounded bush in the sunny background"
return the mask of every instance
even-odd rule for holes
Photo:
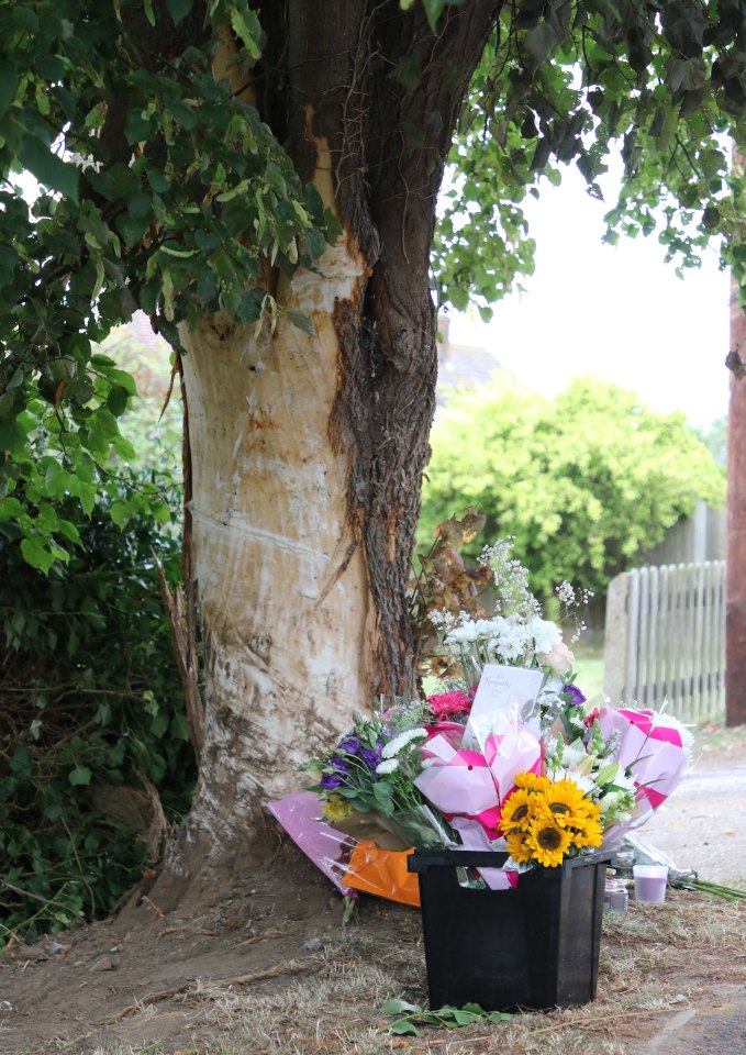
[[[725,481],[683,414],[658,414],[634,392],[577,380],[549,402],[504,380],[455,395],[436,415],[420,537],[467,506],[486,541],[514,535],[548,599],[564,578],[605,592],[609,579]]]

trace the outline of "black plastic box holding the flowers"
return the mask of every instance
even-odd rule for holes
[[[499,868],[506,854],[415,849],[431,1008],[486,1011],[572,1007],[595,998],[611,854],[520,876],[511,890],[458,882],[458,867]]]

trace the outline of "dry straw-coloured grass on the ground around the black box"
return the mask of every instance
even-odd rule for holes
[[[354,926],[324,948],[312,975],[274,979],[259,991],[194,986],[181,998],[178,1043],[118,1042],[96,1055],[632,1055],[663,1026],[666,1012],[746,979],[746,908],[676,892],[663,907],[635,904],[628,914],[604,919],[594,1003],[397,1037],[380,1032],[378,1009],[391,997],[424,1001],[417,929],[413,914],[399,941],[381,944],[372,929]],[[157,1013],[143,1008],[131,1022]]]

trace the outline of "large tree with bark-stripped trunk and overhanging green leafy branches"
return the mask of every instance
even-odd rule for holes
[[[0,517],[36,567],[70,559],[79,532],[55,496],[92,512],[110,447],[126,449],[131,382],[92,342],[141,307],[179,353],[186,585],[204,632],[183,870],[233,855],[257,800],[354,707],[412,685],[428,269],[452,143],[454,209],[469,216],[448,212],[435,263],[455,303],[476,291],[487,312],[530,266],[520,201],[541,174],[575,160],[597,193],[616,141],[611,221],[649,231],[663,200],[661,236],[694,263],[713,232],[737,236],[743,211],[721,145],[743,137],[743,16],[730,0],[2,13]],[[47,189],[33,208],[20,168]],[[732,258],[743,270],[746,253]],[[43,471],[26,453],[34,400],[56,463]]]

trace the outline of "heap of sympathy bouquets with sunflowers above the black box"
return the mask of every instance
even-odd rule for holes
[[[680,780],[689,734],[649,711],[589,706],[572,653],[512,548],[501,540],[485,552],[493,617],[433,613],[447,658],[436,691],[356,718],[305,767],[323,822],[352,840],[353,856],[358,842],[390,855],[503,849],[504,868],[482,869],[479,881],[514,886],[526,869],[617,845]],[[589,597],[568,582],[557,593],[564,617]],[[576,619],[572,641],[583,629]],[[359,886],[349,857],[346,865],[344,881]],[[361,888],[372,889],[367,879]],[[412,897],[410,888],[401,899]]]

